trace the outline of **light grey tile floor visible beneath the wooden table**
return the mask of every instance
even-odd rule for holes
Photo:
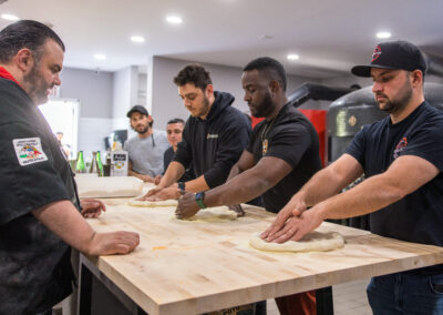
[[[372,315],[367,297],[369,280],[354,281],[332,287],[334,315]],[[267,315],[279,315],[274,299],[267,302]]]

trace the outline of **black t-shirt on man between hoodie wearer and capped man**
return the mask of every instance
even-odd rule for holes
[[[274,156],[292,167],[286,177],[262,194],[265,209],[274,213],[321,169],[318,134],[310,121],[291,104],[281,108],[274,121],[260,122],[246,150],[254,154],[255,163],[264,156]]]

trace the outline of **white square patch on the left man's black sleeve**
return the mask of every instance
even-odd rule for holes
[[[40,138],[14,139],[12,140],[12,144],[21,166],[48,161]]]

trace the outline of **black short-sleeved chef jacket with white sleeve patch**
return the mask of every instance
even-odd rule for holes
[[[69,200],[69,163],[28,94],[0,78],[0,314],[38,313],[71,293],[70,247],[31,213]]]

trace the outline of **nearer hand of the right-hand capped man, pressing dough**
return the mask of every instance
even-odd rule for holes
[[[305,211],[300,216],[292,216],[286,221],[284,227],[277,233],[265,238],[267,242],[285,243],[287,241],[299,241],[309,232],[320,226],[323,219],[315,207]]]

